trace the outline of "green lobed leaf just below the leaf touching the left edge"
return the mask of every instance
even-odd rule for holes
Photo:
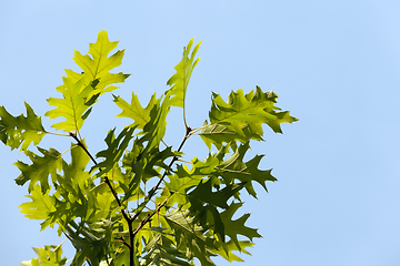
[[[44,193],[49,188],[49,175],[53,182],[57,180],[57,171],[61,171],[62,168],[62,158],[61,154],[54,149],[47,151],[38,147],[38,150],[41,154],[43,154],[42,157],[31,151],[23,151],[23,153],[32,161],[32,164],[28,165],[21,161],[14,163],[14,165],[17,165],[17,167],[22,172],[16,178],[16,183],[18,185],[23,185],[30,181],[28,192],[31,192],[33,185],[37,182],[40,182],[41,190]]]

